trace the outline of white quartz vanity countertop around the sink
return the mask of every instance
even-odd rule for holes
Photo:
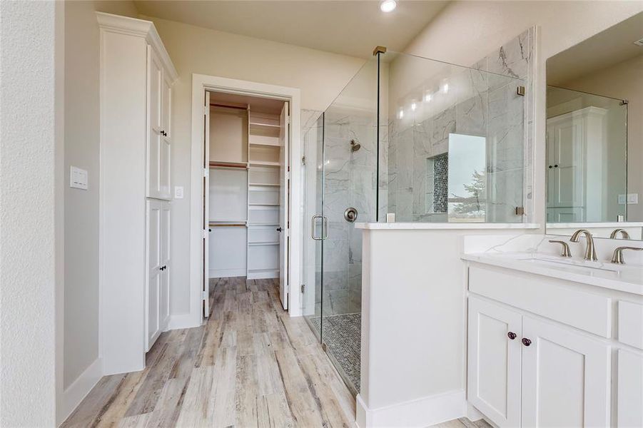
[[[643,295],[643,266],[586,262],[540,253],[470,253],[462,260]]]

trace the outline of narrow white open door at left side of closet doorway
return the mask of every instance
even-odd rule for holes
[[[210,315],[210,93],[203,103],[203,317]]]

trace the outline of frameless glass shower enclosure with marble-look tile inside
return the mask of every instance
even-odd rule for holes
[[[303,314],[355,394],[355,222],[522,222],[525,82],[487,68],[378,53],[305,133]]]

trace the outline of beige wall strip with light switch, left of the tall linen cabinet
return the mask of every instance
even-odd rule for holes
[[[66,1],[64,368],[67,388],[98,358],[98,23],[96,11],[136,16],[131,1]],[[69,187],[69,166],[88,190]]]

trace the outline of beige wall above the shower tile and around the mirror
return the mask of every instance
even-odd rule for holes
[[[405,49],[408,54],[470,64],[538,26],[535,112],[535,221],[545,218],[545,61],[643,11],[641,1],[456,1]]]

